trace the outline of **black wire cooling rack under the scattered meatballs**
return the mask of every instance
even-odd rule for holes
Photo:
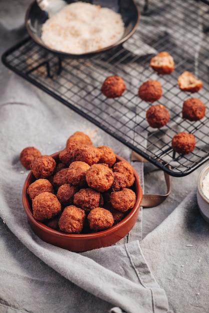
[[[209,7],[206,1],[155,2],[142,11],[133,36],[114,50],[90,58],[60,59],[25,38],[3,53],[2,62],[157,167],[180,177],[209,158]],[[149,60],[162,50],[173,56],[175,69],[170,75],[158,76]],[[203,81],[198,94],[177,87],[177,77],[184,70]],[[123,77],[126,83],[125,92],[115,99],[107,99],[100,92],[103,80],[111,74]],[[139,85],[148,79],[161,82],[163,95],[158,102],[170,112],[169,122],[160,129],[147,124],[145,112],[150,103],[137,96]],[[207,107],[200,121],[181,117],[182,103],[191,96],[200,98]],[[195,135],[195,149],[187,155],[171,148],[171,139],[179,131]]]

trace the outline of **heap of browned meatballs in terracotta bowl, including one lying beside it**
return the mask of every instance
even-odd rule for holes
[[[31,169],[27,188],[35,219],[65,233],[91,233],[121,221],[136,202],[134,169],[105,145],[76,131],[58,159],[25,147],[20,162]]]

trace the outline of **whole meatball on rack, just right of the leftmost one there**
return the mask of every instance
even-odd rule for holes
[[[161,83],[158,80],[147,80],[138,88],[138,96],[147,102],[157,101],[162,96]]]

